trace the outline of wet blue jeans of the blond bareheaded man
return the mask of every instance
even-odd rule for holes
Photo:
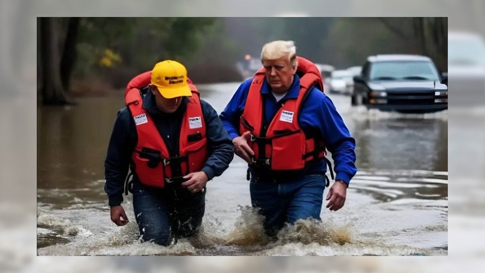
[[[320,220],[325,184],[322,175],[307,175],[284,184],[251,179],[251,204],[260,208],[265,230],[274,236],[284,223],[294,224],[307,218]]]

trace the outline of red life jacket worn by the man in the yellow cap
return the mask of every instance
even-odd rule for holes
[[[158,132],[149,113],[143,109],[143,97],[140,89],[151,82],[151,71],[134,77],[128,83],[125,102],[136,125],[138,143],[132,154],[134,171],[140,182],[152,187],[164,188],[166,183],[181,182],[184,175],[201,171],[208,157],[205,122],[202,115],[199,90],[190,80],[192,96],[184,113],[179,140],[179,156],[170,157],[167,145]],[[174,164],[182,170],[181,176],[172,175]]]

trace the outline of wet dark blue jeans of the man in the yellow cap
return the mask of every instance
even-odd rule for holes
[[[170,245],[173,239],[193,236],[205,211],[205,188],[192,193],[186,188],[151,188],[134,184],[133,209],[144,241]]]

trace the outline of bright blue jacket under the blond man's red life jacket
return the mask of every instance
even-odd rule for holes
[[[239,136],[239,120],[248,98],[251,82],[252,78],[247,79],[239,86],[231,101],[220,114],[222,125],[229,133],[231,139]],[[265,79],[261,88],[261,93],[267,97],[265,100],[265,124],[268,125],[271,122],[282,102],[291,98],[296,99],[299,92],[300,77],[295,75],[288,93],[283,99],[276,102],[271,93],[271,87]],[[305,133],[317,131],[321,134],[327,150],[332,153],[332,158],[334,159],[335,180],[343,180],[348,184],[357,172],[354,151],[355,139],[351,137],[347,126],[330,98],[318,90],[317,87],[313,87],[309,92],[308,98],[302,105],[299,117],[300,127]],[[271,179],[269,173],[256,173],[251,167],[250,171],[251,174],[262,179]],[[322,158],[310,163],[305,174],[325,174],[326,171],[326,161]]]

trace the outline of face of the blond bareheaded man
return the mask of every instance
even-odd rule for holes
[[[263,60],[263,67],[265,68],[266,80],[274,92],[284,93],[290,89],[297,66],[292,66],[288,57]]]

